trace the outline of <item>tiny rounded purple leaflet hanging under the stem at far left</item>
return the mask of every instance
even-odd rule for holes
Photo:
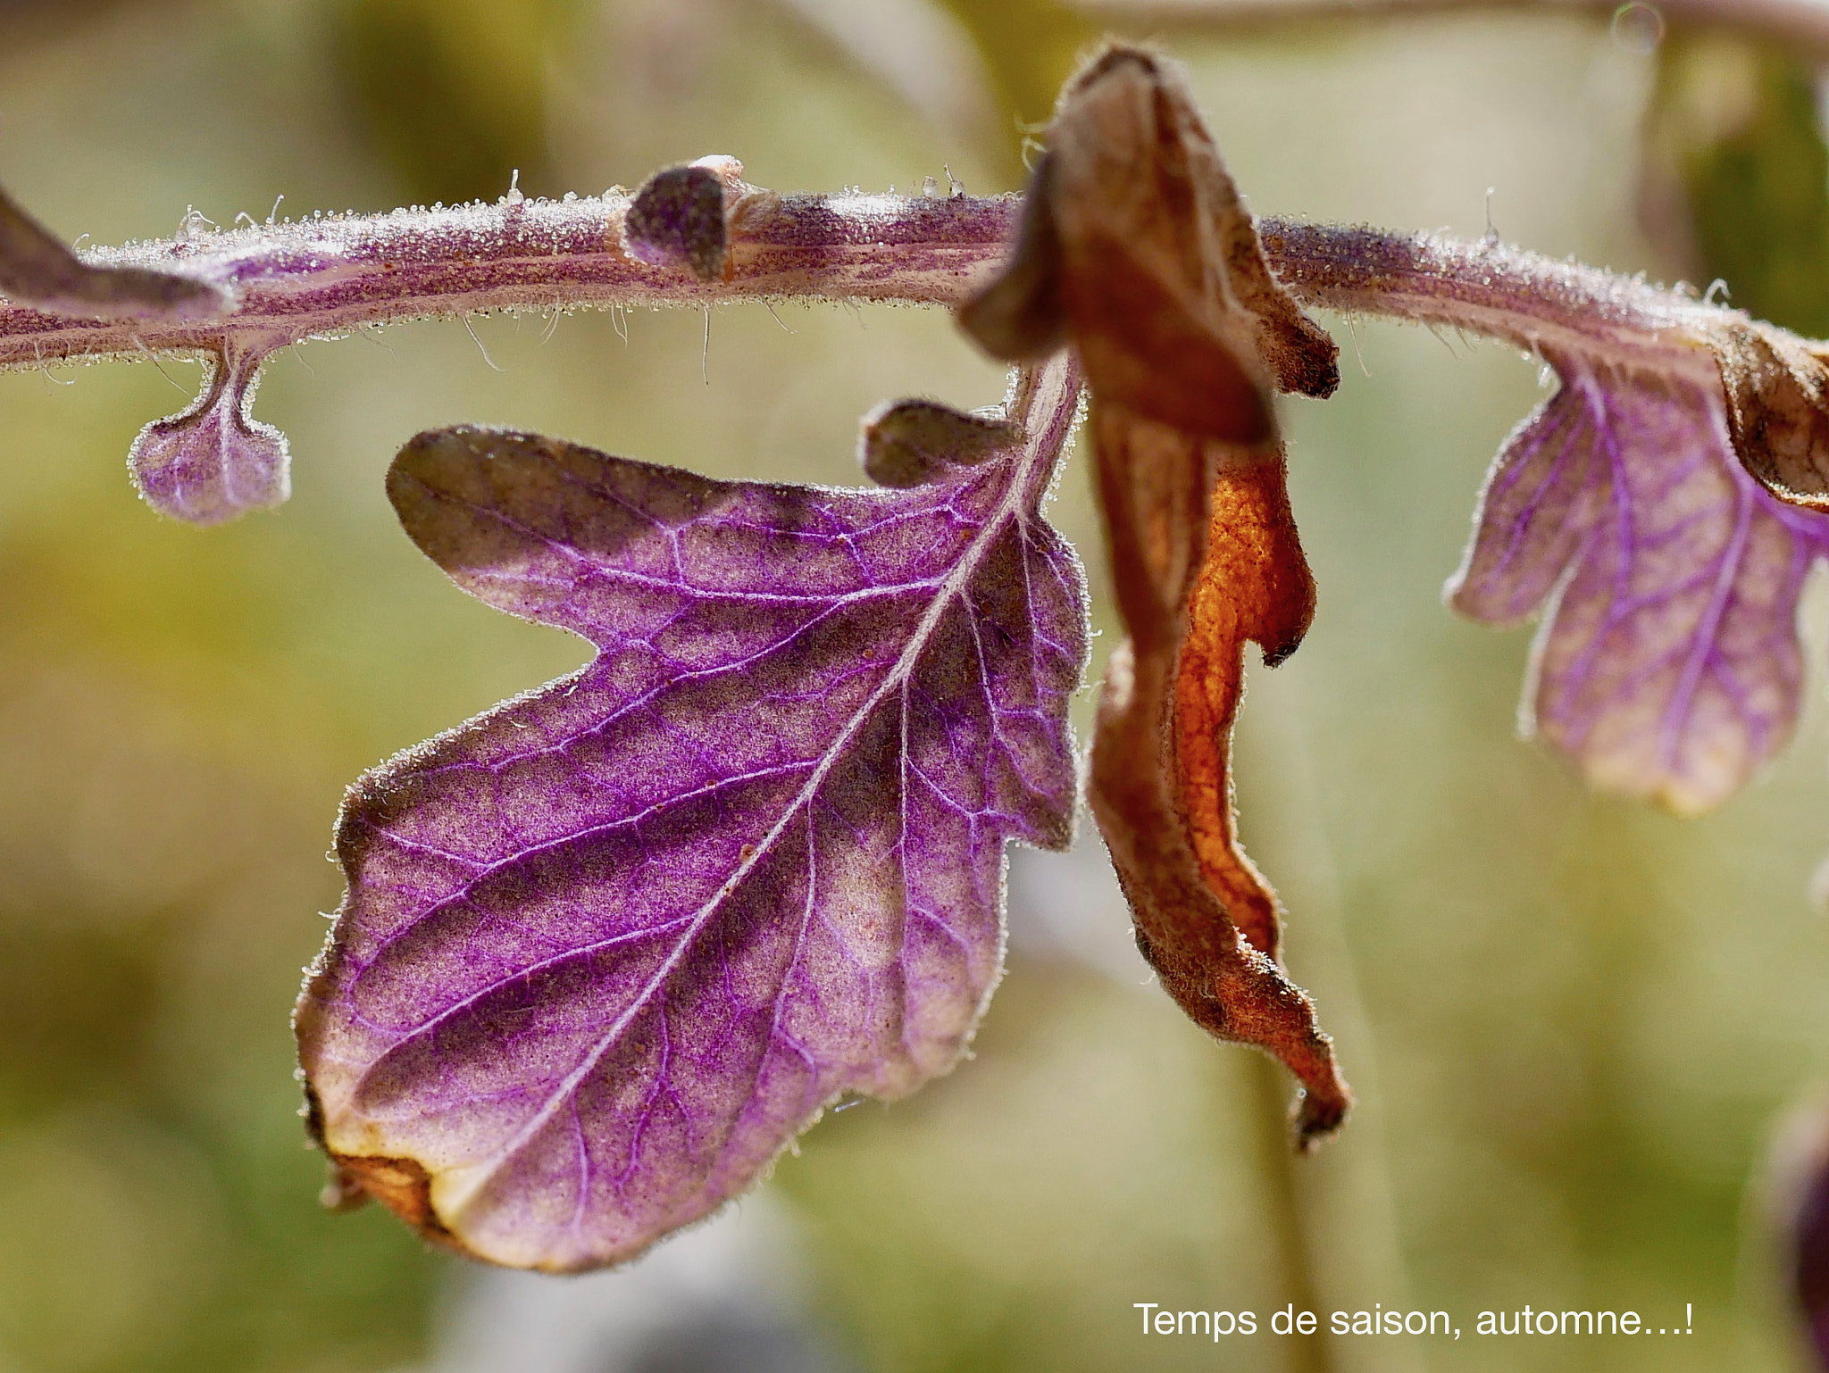
[[[221,525],[291,494],[285,435],[249,413],[265,357],[230,336],[210,358],[196,404],[139,431],[126,464],[146,505],[192,525]]]

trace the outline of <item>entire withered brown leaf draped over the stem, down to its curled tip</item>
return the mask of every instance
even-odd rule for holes
[[[1271,388],[1332,393],[1333,340],[1271,276],[1176,68],[1121,44],[1063,91],[1015,254],[960,324],[999,357],[1081,355],[1128,631],[1088,799],[1138,947],[1196,1024],[1302,1080],[1306,1143],[1352,1097],[1277,962],[1277,896],[1238,846],[1231,731],[1246,642],[1275,665],[1313,614]]]

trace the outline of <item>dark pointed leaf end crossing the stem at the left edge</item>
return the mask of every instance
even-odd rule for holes
[[[104,320],[210,320],[229,309],[209,282],[146,267],[91,267],[4,190],[0,294],[16,305]]]

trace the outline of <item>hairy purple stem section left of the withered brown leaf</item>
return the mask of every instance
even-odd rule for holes
[[[640,261],[624,247],[629,197],[503,197],[494,205],[348,214],[86,252],[221,285],[210,325],[106,324],[0,305],[0,367],[59,358],[219,353],[225,335],[335,336],[373,324],[492,309],[702,305],[732,298],[951,305],[1002,256],[1019,201],[781,196],[730,241],[726,280]]]

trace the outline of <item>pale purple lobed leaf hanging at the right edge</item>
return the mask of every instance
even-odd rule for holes
[[[1546,607],[1525,733],[1597,786],[1708,810],[1796,722],[1798,594],[1829,517],[1747,474],[1719,386],[1549,360],[1562,386],[1500,452],[1449,598],[1496,625]]]

